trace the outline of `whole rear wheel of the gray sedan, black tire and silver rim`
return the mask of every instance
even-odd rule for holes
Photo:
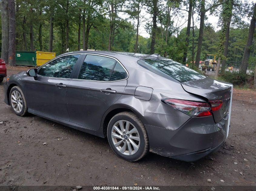
[[[108,123],[107,136],[115,154],[126,161],[138,161],[149,152],[145,126],[132,112],[113,116]]]

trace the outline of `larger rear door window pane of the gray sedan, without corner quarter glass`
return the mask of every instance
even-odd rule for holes
[[[104,56],[87,55],[78,79],[109,81],[116,60]]]

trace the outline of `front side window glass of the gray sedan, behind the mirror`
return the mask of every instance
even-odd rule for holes
[[[70,78],[80,55],[62,56],[39,69],[38,75],[55,78]]]

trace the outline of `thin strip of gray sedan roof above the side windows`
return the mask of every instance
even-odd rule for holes
[[[139,54],[139,53],[129,53],[129,52],[118,52],[118,51],[98,51],[98,50],[80,50],[80,51],[73,51],[73,52],[68,52],[68,53],[64,53],[62,55],[66,55],[66,54],[75,54],[75,53],[93,53],[93,54],[101,54],[101,55],[105,55],[105,56],[130,56],[130,57],[133,57],[133,58],[137,58],[138,60],[139,59],[159,59],[159,58],[164,58],[164,57],[161,57],[161,56],[151,56],[149,54]],[[166,59],[166,58],[164,58]]]

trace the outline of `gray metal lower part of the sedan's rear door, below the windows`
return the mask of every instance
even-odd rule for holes
[[[105,111],[121,97],[127,80],[99,82],[71,80],[68,85],[66,103],[70,122],[91,129],[100,129],[100,119]],[[115,94],[101,92],[111,88]]]

